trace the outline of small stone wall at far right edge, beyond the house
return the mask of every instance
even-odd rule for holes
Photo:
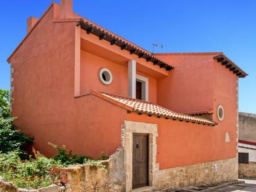
[[[239,177],[256,178],[256,162],[249,162],[249,164],[239,163],[238,175]]]

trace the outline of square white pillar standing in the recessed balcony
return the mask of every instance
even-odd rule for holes
[[[136,98],[136,61],[128,62],[128,94],[130,98]]]

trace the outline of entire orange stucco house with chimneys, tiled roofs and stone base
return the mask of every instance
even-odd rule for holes
[[[222,52],[152,54],[53,2],[7,59],[34,147],[124,153],[126,191],[237,180],[238,79]]]

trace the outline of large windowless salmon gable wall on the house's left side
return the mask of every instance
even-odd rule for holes
[[[76,24],[53,22],[53,5],[11,57],[14,123],[47,156],[56,153],[47,142],[93,158],[111,155],[121,145],[126,110],[94,96],[74,98]]]

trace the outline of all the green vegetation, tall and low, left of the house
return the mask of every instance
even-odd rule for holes
[[[61,185],[58,181],[60,170],[68,165],[89,163],[106,171],[106,166],[99,160],[72,154],[71,150],[67,152],[65,145],[58,147],[49,143],[57,150],[57,155],[47,158],[33,150],[35,158],[32,158],[22,146],[32,143],[33,139],[16,129],[14,119],[10,115],[9,91],[0,89],[0,176],[7,181],[20,188],[37,189],[51,184]],[[101,159],[106,158],[102,153]]]

